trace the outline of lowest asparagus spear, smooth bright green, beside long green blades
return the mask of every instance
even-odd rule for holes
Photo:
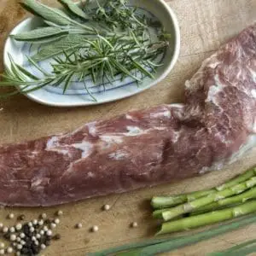
[[[162,224],[160,231],[156,235],[194,229],[207,224],[214,224],[231,218],[237,218],[252,212],[256,212],[256,201],[248,201],[236,207],[166,222]]]

